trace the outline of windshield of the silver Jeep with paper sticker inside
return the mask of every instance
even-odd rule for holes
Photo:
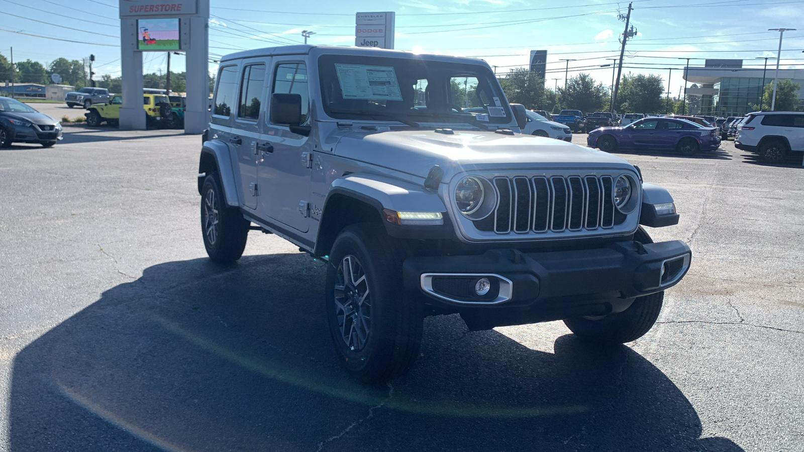
[[[494,74],[477,64],[354,55],[318,60],[329,117],[358,121],[511,122]]]

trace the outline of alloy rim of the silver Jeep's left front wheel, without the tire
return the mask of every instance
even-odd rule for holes
[[[351,254],[343,257],[334,286],[335,314],[341,339],[351,351],[366,347],[371,329],[371,292],[363,265]]]

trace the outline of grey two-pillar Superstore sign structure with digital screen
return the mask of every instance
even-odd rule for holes
[[[120,0],[121,129],[146,129],[146,114],[142,108],[142,52],[183,51],[187,55],[184,132],[203,133],[208,122],[209,1]]]

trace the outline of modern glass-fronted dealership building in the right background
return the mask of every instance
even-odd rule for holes
[[[756,63],[755,60],[751,60]],[[700,114],[743,116],[754,111],[761,101],[762,87],[773,82],[775,62],[768,60],[767,70],[743,68],[743,60],[706,60],[704,67],[684,71],[684,80],[699,88],[687,88],[688,96],[701,97]],[[804,69],[779,69],[779,80],[789,79],[801,85],[798,109],[804,109]]]

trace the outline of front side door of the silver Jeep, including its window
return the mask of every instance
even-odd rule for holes
[[[307,69],[298,57],[274,57],[273,77],[266,90],[265,104],[274,92],[301,95],[301,125],[310,125],[310,94]],[[310,174],[313,144],[305,135],[290,131],[287,125],[270,121],[270,106],[262,121],[257,143],[260,153],[260,216],[285,224],[297,232],[310,229]],[[293,231],[290,231],[293,232]]]

